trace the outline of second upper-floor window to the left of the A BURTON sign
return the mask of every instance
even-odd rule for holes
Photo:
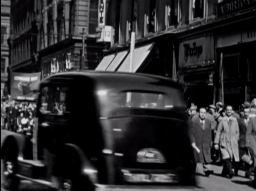
[[[167,26],[178,24],[178,0],[169,0],[166,6]]]

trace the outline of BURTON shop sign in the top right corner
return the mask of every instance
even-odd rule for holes
[[[238,13],[253,9],[256,6],[256,0],[223,0],[217,4],[217,16],[226,16],[232,13]]]

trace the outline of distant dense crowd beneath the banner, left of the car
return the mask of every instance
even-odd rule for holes
[[[36,104],[11,100],[10,96],[1,100],[1,129],[32,135]]]

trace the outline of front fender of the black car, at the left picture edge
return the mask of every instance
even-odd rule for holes
[[[25,146],[25,136],[20,133],[1,130],[1,159],[5,156],[8,147],[12,147],[17,157],[23,157],[23,148]]]

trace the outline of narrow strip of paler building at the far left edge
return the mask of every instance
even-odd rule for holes
[[[8,36],[10,34],[10,0],[1,0],[1,99],[7,93],[9,63]]]

